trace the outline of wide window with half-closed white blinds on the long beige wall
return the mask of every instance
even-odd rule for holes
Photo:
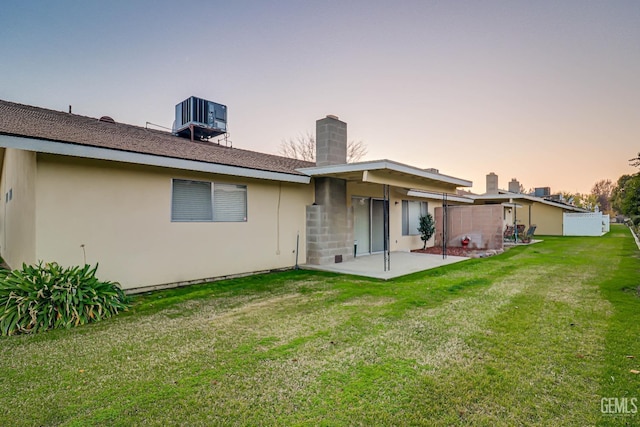
[[[246,220],[246,185],[173,180],[171,221],[243,222]]]

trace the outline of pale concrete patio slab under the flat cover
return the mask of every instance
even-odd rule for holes
[[[430,270],[447,264],[468,260],[466,257],[420,254],[412,252],[392,252],[391,269],[384,271],[383,254],[362,255],[352,261],[329,265],[301,265],[307,270],[330,271],[340,274],[372,277],[389,280],[418,271]]]

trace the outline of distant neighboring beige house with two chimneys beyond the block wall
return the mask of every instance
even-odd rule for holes
[[[516,183],[517,185],[512,185]],[[519,187],[517,181],[512,180],[510,188]],[[476,205],[502,204],[504,226],[524,224],[526,227],[536,225],[536,234],[548,236],[562,236],[564,213],[584,213],[586,209],[547,200],[542,197],[530,196],[498,189],[497,175],[487,175],[487,192],[482,195],[468,196],[474,199]]]

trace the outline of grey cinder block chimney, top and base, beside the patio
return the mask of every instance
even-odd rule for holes
[[[316,122],[316,165],[347,162],[347,124],[335,116]],[[347,182],[315,178],[315,203],[307,206],[307,263],[353,259],[353,211],[347,208]]]

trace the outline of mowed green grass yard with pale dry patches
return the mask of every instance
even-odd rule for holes
[[[631,370],[640,251],[613,226],[387,282],[290,271],[156,292],[3,337],[0,424],[640,425]]]

